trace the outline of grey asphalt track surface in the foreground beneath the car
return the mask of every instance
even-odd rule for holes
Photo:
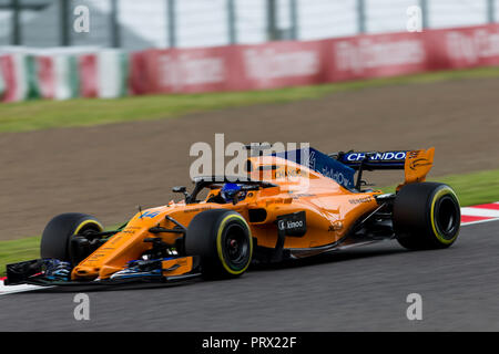
[[[74,292],[3,295],[0,331],[499,331],[498,274],[492,221],[448,250],[386,241],[237,280],[88,292],[89,321],[74,320]],[[407,320],[409,293],[421,321]]]

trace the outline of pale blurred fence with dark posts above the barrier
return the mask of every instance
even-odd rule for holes
[[[72,31],[78,6],[91,31]],[[496,22],[497,0],[0,0],[0,45],[99,45],[143,50],[255,44]]]

